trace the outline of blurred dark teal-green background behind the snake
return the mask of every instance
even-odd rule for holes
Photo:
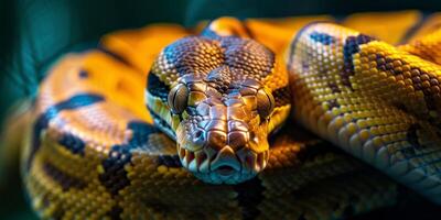
[[[67,48],[119,29],[153,22],[192,26],[220,15],[278,18],[361,11],[441,11],[439,0],[0,0],[0,123],[9,107],[33,97],[45,66]],[[18,170],[12,173],[17,174]],[[0,175],[2,175],[0,173]],[[19,176],[0,185],[0,219],[33,219]]]

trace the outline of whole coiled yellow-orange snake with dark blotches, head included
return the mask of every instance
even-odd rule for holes
[[[303,26],[330,16],[222,18],[66,54],[25,132],[32,206],[45,219],[341,219],[396,202],[376,169],[440,204],[441,19],[420,18],[343,22],[375,36]]]

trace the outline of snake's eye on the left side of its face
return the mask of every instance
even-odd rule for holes
[[[178,84],[170,90],[168,102],[173,113],[182,113],[187,103],[189,88],[183,84]]]

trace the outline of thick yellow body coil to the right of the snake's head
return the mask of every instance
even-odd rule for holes
[[[295,119],[439,204],[437,38],[401,48],[334,24],[305,28],[289,55]]]

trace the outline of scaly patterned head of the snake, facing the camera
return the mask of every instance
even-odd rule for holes
[[[184,168],[206,183],[238,184],[266,167],[268,134],[289,112],[273,97],[288,75],[275,69],[275,54],[243,37],[189,36],[161,52],[150,74],[160,82],[149,78],[148,96],[166,90],[165,103],[147,105],[170,125]]]

